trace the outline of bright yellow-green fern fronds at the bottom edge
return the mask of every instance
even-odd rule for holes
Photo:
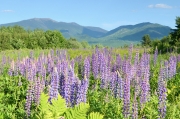
[[[75,107],[66,107],[65,99],[58,95],[57,99],[52,99],[51,103],[48,102],[49,96],[45,93],[41,94],[40,105],[38,106],[38,113],[35,115],[35,119],[59,119],[65,117],[65,119],[102,119],[103,115],[99,113],[90,113],[89,104],[80,103]]]

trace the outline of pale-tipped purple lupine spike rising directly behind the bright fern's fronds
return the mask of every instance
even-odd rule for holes
[[[51,87],[49,91],[49,95],[50,95],[49,100],[58,97],[58,86],[59,86],[59,75],[57,72],[57,68],[54,67],[53,72],[51,73]]]

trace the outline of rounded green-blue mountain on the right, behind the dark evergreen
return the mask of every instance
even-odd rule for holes
[[[140,41],[145,34],[151,39],[162,38],[171,32],[171,28],[160,24],[144,22],[136,25],[126,25],[107,32],[103,39]]]

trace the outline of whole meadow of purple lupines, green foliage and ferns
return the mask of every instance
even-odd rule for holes
[[[144,49],[0,53],[2,119],[179,119],[180,55]]]

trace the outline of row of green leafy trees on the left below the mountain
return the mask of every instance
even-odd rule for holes
[[[49,49],[49,48],[92,48],[86,41],[75,38],[65,39],[61,32],[52,30],[25,30],[21,26],[0,27],[0,51],[11,49]]]

